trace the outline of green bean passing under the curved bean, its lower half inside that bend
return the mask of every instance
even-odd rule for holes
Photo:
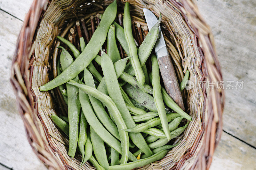
[[[84,83],[85,83],[85,85],[89,85],[89,86],[95,88],[95,85],[93,83],[92,74],[86,68],[84,69]],[[116,137],[117,139],[120,140],[118,129],[117,129],[115,123],[108,116],[108,113],[105,111],[100,100],[92,97],[91,95],[89,95],[89,99],[91,101],[93,110],[94,110],[95,114],[97,115],[99,121],[105,126],[105,128],[114,137]]]

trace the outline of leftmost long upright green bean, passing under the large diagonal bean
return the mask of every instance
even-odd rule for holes
[[[62,49],[60,54],[60,63],[61,67],[65,71],[66,68],[73,63],[72,56],[65,50],[63,47],[59,47]],[[78,76],[73,79],[78,82]],[[78,141],[78,123],[79,123],[79,115],[81,111],[81,105],[78,98],[79,89],[72,86],[66,85],[68,92],[68,122],[69,122],[69,147],[68,147],[68,155],[71,157],[75,156],[76,146]]]

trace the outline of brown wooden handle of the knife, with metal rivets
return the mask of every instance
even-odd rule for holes
[[[169,55],[157,58],[160,72],[164,81],[164,87],[169,96],[175,101],[175,103],[185,111],[180,85],[178,83],[172,60]]]

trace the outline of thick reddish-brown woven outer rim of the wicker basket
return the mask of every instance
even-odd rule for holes
[[[38,30],[38,24],[42,19],[41,16],[47,9],[49,3],[51,3],[51,0],[34,0],[25,17],[12,61],[11,84],[17,98],[18,111],[24,122],[28,141],[33,151],[50,169],[62,169],[62,165],[57,160],[47,159],[48,153],[45,153],[43,144],[45,141],[40,139],[40,133],[42,132],[39,133],[38,124],[36,123],[36,118],[41,119],[40,115],[37,114],[38,103],[35,102],[37,99],[31,89],[31,79],[34,69],[33,62],[31,62],[30,58],[33,54],[33,50],[31,49],[33,49],[33,41]],[[175,0],[164,0],[163,4],[177,9],[190,30],[194,33],[197,48],[201,55],[199,70],[202,72],[202,75],[206,75],[209,81],[221,81],[221,69],[216,55],[213,35],[210,27],[200,15],[195,1],[180,0],[180,2],[176,2]],[[203,92],[204,100],[206,101],[207,99],[209,102],[204,102],[203,112],[206,112],[205,105],[209,105],[211,108],[210,111],[208,110],[211,112],[211,117],[207,120],[209,123],[207,123],[207,126],[204,126],[204,123],[202,123],[202,129],[198,133],[195,144],[182,156],[172,169],[182,167],[185,160],[188,160],[194,154],[203,135],[207,136],[205,137],[205,143],[206,145],[208,144],[208,147],[205,147],[204,150],[198,153],[192,169],[209,169],[211,165],[213,152],[221,137],[224,91],[213,89],[208,95],[206,94],[206,89]],[[204,119],[204,115],[202,119]]]

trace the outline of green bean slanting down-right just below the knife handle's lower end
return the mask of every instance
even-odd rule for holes
[[[162,96],[164,99],[164,103],[170,107],[172,110],[183,116],[184,118],[188,119],[189,121],[192,121],[192,117],[189,116],[186,112],[184,112],[173,100],[172,98],[167,94],[165,89],[162,87]]]

